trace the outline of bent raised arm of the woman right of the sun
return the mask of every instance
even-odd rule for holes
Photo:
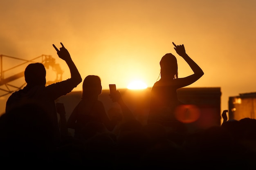
[[[182,45],[176,45],[176,44],[173,43],[173,45],[175,46],[174,49],[177,52],[177,54],[180,55],[189,64],[190,68],[194,72],[194,74],[192,74],[192,75],[189,75],[189,76],[184,77],[184,78],[179,78],[177,80],[177,82],[179,84],[182,84],[182,86],[188,86],[188,85],[194,83],[195,81],[197,81],[198,79],[200,79],[200,77],[202,77],[202,75],[204,75],[204,72],[198,66],[198,64],[196,64],[189,57],[189,55],[186,54],[185,47],[184,47],[183,44]]]

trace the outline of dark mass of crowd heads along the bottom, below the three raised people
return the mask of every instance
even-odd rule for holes
[[[15,113],[19,114],[15,114]],[[0,117],[1,164],[9,168],[255,169],[256,120],[229,120],[189,132],[160,124],[122,122],[110,132],[92,122],[83,137],[56,145],[44,111],[22,106]]]

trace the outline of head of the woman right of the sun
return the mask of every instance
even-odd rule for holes
[[[161,78],[166,79],[169,77],[173,77],[173,79],[178,78],[178,64],[176,57],[167,53],[164,55],[160,61],[161,67]]]

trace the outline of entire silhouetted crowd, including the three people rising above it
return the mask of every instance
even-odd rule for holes
[[[110,98],[121,106],[121,113],[107,114],[98,100],[102,87],[96,75],[85,77],[81,101],[66,120],[64,104],[55,101],[82,78],[61,45],[60,50],[53,46],[71,77],[45,86],[43,64],[29,64],[27,85],[7,100],[0,117],[2,168],[256,169],[256,119],[227,120],[224,110],[221,125],[193,131],[175,119],[173,110],[182,104],[177,89],[204,75],[183,44],[173,43],[174,49],[194,73],[178,78],[176,57],[171,53],[162,57],[161,79],[151,91],[147,124],[136,119],[119,91],[110,93]]]

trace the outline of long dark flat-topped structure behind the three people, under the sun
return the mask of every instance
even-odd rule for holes
[[[147,123],[150,90],[130,90],[117,89],[120,91],[126,105],[130,108],[136,119],[142,124]],[[106,113],[110,109],[119,110],[121,108],[113,103],[109,96],[109,90],[102,90],[99,95],[105,106]],[[185,105],[179,108],[179,119],[186,123],[190,130],[205,129],[221,124],[221,89],[220,87],[200,87],[200,88],[180,88],[177,91],[178,98]],[[66,109],[66,119],[81,100],[81,91],[74,91],[60,97],[56,102],[64,103]]]

